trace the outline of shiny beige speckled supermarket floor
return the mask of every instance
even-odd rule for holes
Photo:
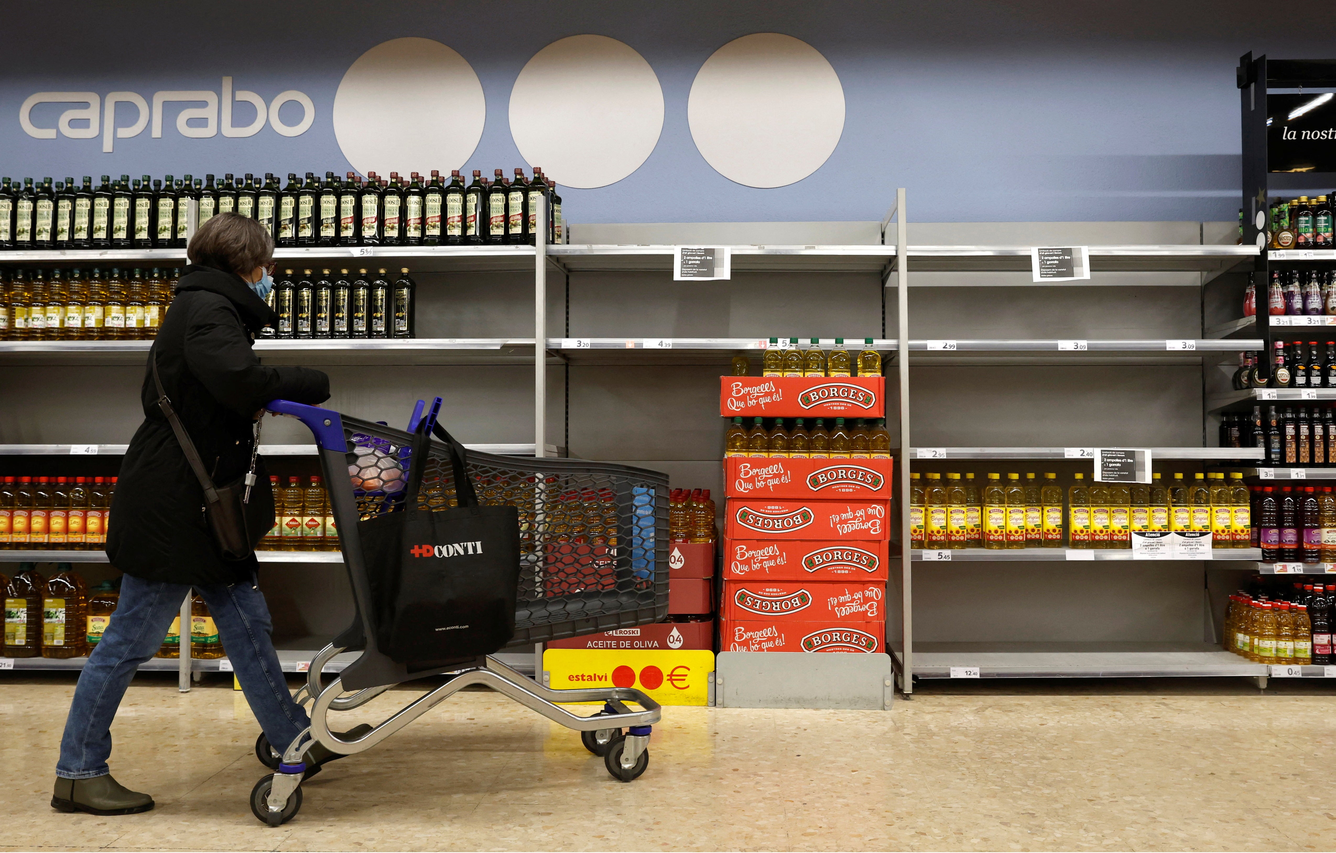
[[[279,829],[247,806],[257,726],[222,681],[131,687],[111,765],[154,812],[51,810],[72,689],[0,674],[0,850],[1336,848],[1336,685],[1320,682],[935,682],[886,713],[669,707],[631,785],[574,733],[464,693],[326,767]]]

